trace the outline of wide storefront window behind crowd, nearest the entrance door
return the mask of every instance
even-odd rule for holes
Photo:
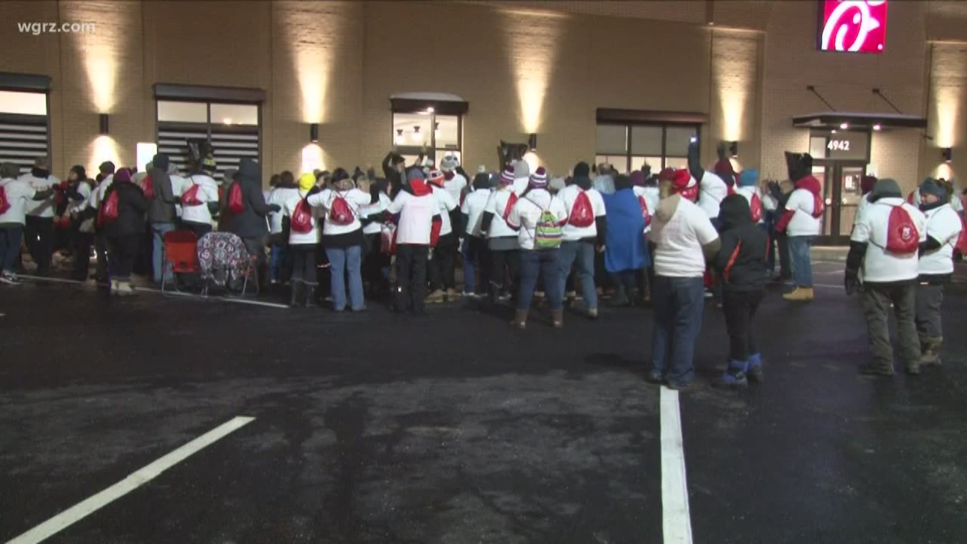
[[[698,136],[698,125],[600,124],[595,163],[607,163],[630,172],[651,166],[652,173],[663,167],[688,165],[689,141]]]

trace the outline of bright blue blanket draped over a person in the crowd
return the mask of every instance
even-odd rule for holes
[[[642,232],[645,224],[637,196],[631,189],[601,196],[607,212],[604,268],[608,272],[621,272],[650,266],[652,259]]]

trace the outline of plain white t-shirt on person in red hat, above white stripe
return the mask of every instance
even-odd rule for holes
[[[705,274],[702,246],[718,238],[716,227],[705,210],[688,198],[679,198],[678,207],[667,223],[652,217],[648,238],[655,242],[655,273],[669,278],[701,278]]]

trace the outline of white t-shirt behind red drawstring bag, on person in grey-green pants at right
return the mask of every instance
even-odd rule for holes
[[[866,256],[863,261],[864,282],[890,283],[914,280],[920,274],[918,252],[909,255],[887,253],[887,230],[890,212],[894,206],[902,205],[910,214],[917,227],[919,240],[926,240],[926,217],[923,212],[899,196],[880,198],[870,202],[863,217],[853,228],[850,240],[866,243]]]

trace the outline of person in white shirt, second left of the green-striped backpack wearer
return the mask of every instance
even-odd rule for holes
[[[473,191],[460,204],[463,216],[463,294],[476,296],[486,292],[490,282],[490,251],[482,230],[484,210],[490,199],[490,174],[486,171],[474,176]],[[480,285],[477,283],[477,267],[480,266]]]

